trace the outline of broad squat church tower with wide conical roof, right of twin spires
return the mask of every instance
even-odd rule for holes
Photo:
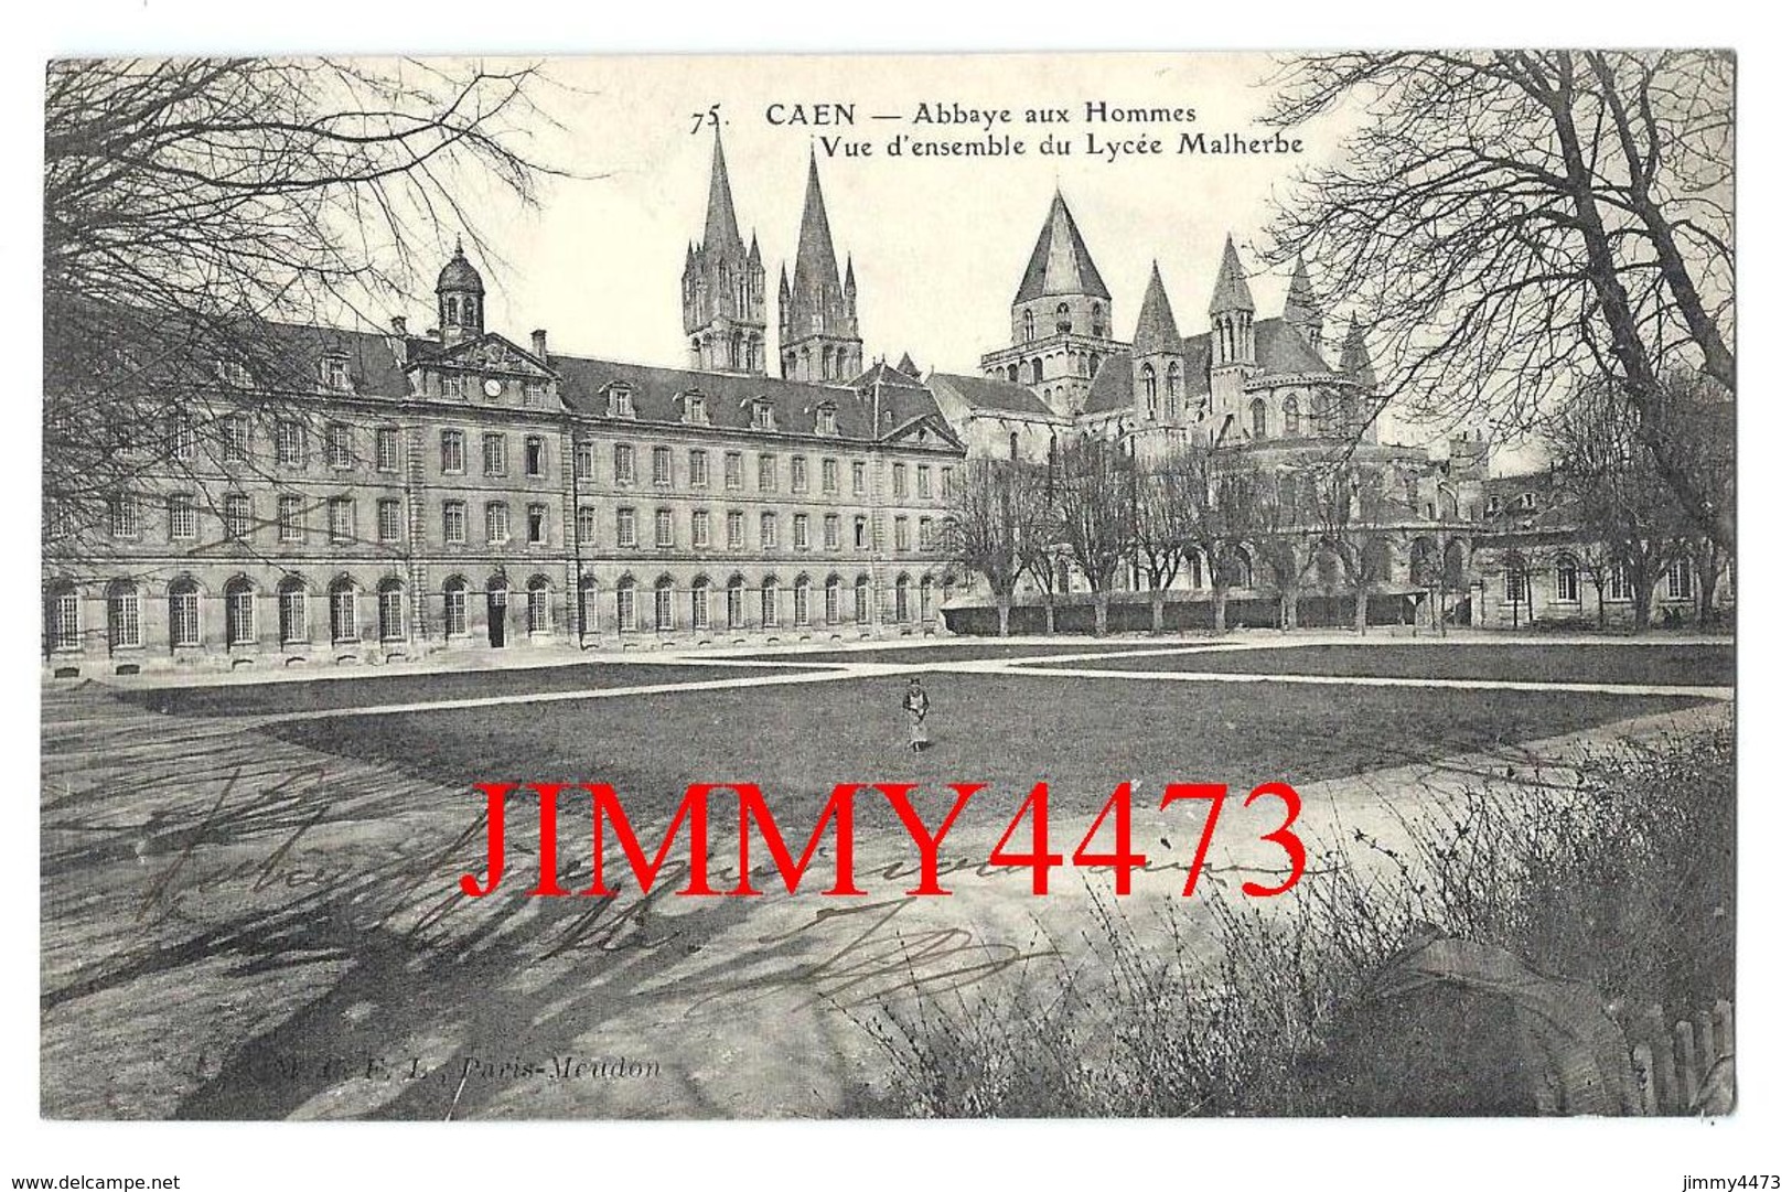
[[[1113,337],[1107,283],[1055,190],[1009,307],[1009,346],[984,355],[984,376],[1027,385],[1072,416],[1088,403],[1102,360],[1124,350]]]

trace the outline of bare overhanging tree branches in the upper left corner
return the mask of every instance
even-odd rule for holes
[[[376,326],[464,195],[532,203],[534,66],[65,59],[45,91],[47,554],[143,475],[204,473],[220,405],[317,391],[301,328]],[[296,410],[303,403],[294,403]]]

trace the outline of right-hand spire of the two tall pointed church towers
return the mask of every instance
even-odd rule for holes
[[[840,278],[821,197],[821,170],[808,154],[808,190],[803,226],[788,278],[778,271],[778,353],[790,380],[844,382],[864,371],[866,344],[858,337],[858,280],[846,258]]]

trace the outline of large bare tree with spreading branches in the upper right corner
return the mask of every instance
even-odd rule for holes
[[[1613,376],[1686,516],[1735,514],[1674,450],[1665,378],[1735,393],[1735,59],[1722,52],[1366,52],[1290,59],[1272,118],[1367,115],[1272,229],[1353,301],[1382,398],[1525,432]]]

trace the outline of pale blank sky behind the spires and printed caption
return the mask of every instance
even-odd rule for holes
[[[819,160],[835,253],[851,255],[867,362],[905,351],[923,371],[977,373],[1007,344],[1009,303],[1054,186],[1064,197],[1111,294],[1116,333],[1131,337],[1152,262],[1185,335],[1208,328],[1208,299],[1228,233],[1251,274],[1258,317],[1278,315],[1287,269],[1253,251],[1274,203],[1303,170],[1339,161],[1358,113],[1299,129],[1294,154],[1176,152],[1183,133],[1265,136],[1274,59],[1263,54],[1090,56],[760,56],[548,59],[545,117],[530,151],[568,170],[518,210],[475,192],[470,240],[487,283],[487,326],[527,342],[547,328],[554,351],[683,364],[679,278],[702,237],[715,109],[742,235],[760,238],[767,321],[776,337],[780,263],[796,251],[808,156]],[[1107,109],[1192,109],[1193,120],[1090,120]],[[925,124],[918,113],[1007,111],[1009,122]],[[851,122],[842,122],[849,106]],[[835,124],[797,124],[815,113]],[[1068,109],[1070,124],[1030,124],[1030,109]],[[874,117],[898,117],[878,120]],[[814,117],[812,117],[814,118]],[[557,127],[556,127],[557,125]],[[898,134],[1025,145],[1020,156],[916,158],[887,151]],[[1073,152],[1048,156],[1057,136]],[[1088,152],[1093,136],[1098,152]],[[866,156],[828,154],[830,140],[869,142]],[[1107,142],[1158,140],[1161,152]],[[446,237],[450,229],[444,229]],[[407,312],[426,326],[426,308]],[[1349,312],[1330,312],[1335,342]],[[1389,436],[1389,432],[1392,432]],[[1383,437],[1435,437],[1389,418]]]

